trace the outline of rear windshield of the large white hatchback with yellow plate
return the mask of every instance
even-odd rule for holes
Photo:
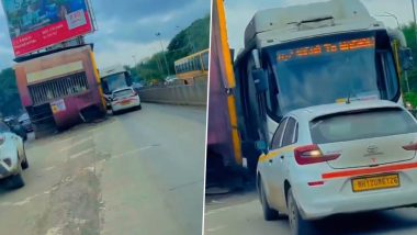
[[[377,109],[320,116],[309,123],[315,144],[417,133],[414,118],[401,109]]]

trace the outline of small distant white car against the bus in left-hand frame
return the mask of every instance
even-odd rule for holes
[[[139,94],[131,87],[114,90],[111,97],[111,109],[113,114],[128,109],[142,109]]]

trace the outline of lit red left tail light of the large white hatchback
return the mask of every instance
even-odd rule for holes
[[[317,145],[297,147],[294,149],[294,155],[298,165],[318,164],[340,157],[340,154],[323,155]]]

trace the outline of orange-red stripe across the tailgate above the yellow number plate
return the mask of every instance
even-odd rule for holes
[[[364,175],[397,172],[402,170],[413,170],[413,169],[417,169],[417,163],[374,167],[374,168],[367,168],[367,169],[343,170],[343,171],[338,171],[338,172],[328,172],[328,174],[323,174],[322,178],[323,179],[350,178],[350,177],[364,176]]]

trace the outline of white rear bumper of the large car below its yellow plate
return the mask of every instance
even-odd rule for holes
[[[326,180],[316,187],[300,181],[293,184],[293,191],[305,220],[417,205],[417,170],[396,174],[399,188],[353,192],[351,178],[342,178]]]

